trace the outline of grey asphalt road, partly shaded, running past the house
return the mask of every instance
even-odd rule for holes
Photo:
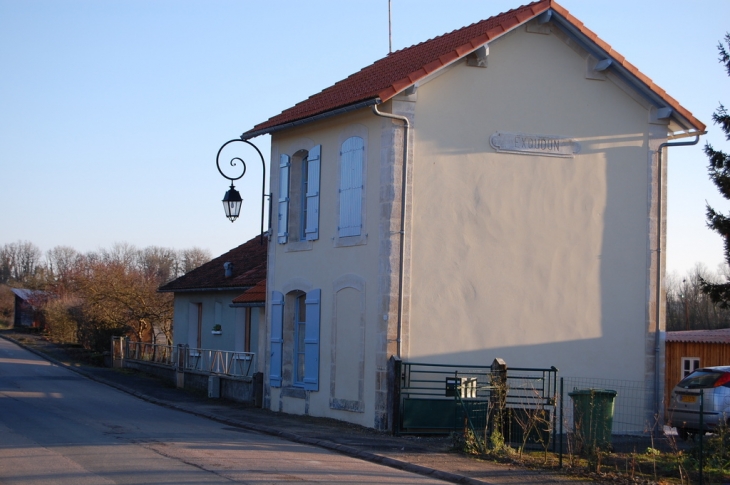
[[[157,406],[0,339],[0,484],[443,483]]]

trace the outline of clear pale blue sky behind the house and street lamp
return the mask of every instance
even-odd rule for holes
[[[520,0],[392,0],[401,49]],[[563,0],[589,29],[708,125],[730,106],[717,43],[727,0]],[[260,169],[231,224],[215,168],[225,141],[383,57],[387,0],[0,0],[0,244],[114,242],[219,255],[259,225]],[[269,139],[253,140],[268,163]],[[705,228],[701,146],[669,154],[668,269],[722,261]],[[258,172],[257,172],[258,171]],[[245,180],[244,179],[244,180]],[[250,212],[246,212],[246,211]]]

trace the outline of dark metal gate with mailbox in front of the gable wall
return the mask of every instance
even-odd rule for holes
[[[550,441],[555,434],[555,367],[507,368],[496,359],[491,366],[396,362],[394,370],[397,433],[448,434],[468,428],[486,436],[499,416],[506,442],[521,442],[526,431],[534,434],[529,442]]]

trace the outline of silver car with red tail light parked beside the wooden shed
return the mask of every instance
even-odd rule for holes
[[[684,440],[700,432],[700,391],[704,391],[702,429],[730,424],[730,366],[697,369],[672,390],[667,421]]]

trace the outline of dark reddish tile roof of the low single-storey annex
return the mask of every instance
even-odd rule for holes
[[[266,248],[259,236],[162,285],[159,291],[248,289],[266,279]],[[233,263],[233,275],[225,276],[223,263]]]

